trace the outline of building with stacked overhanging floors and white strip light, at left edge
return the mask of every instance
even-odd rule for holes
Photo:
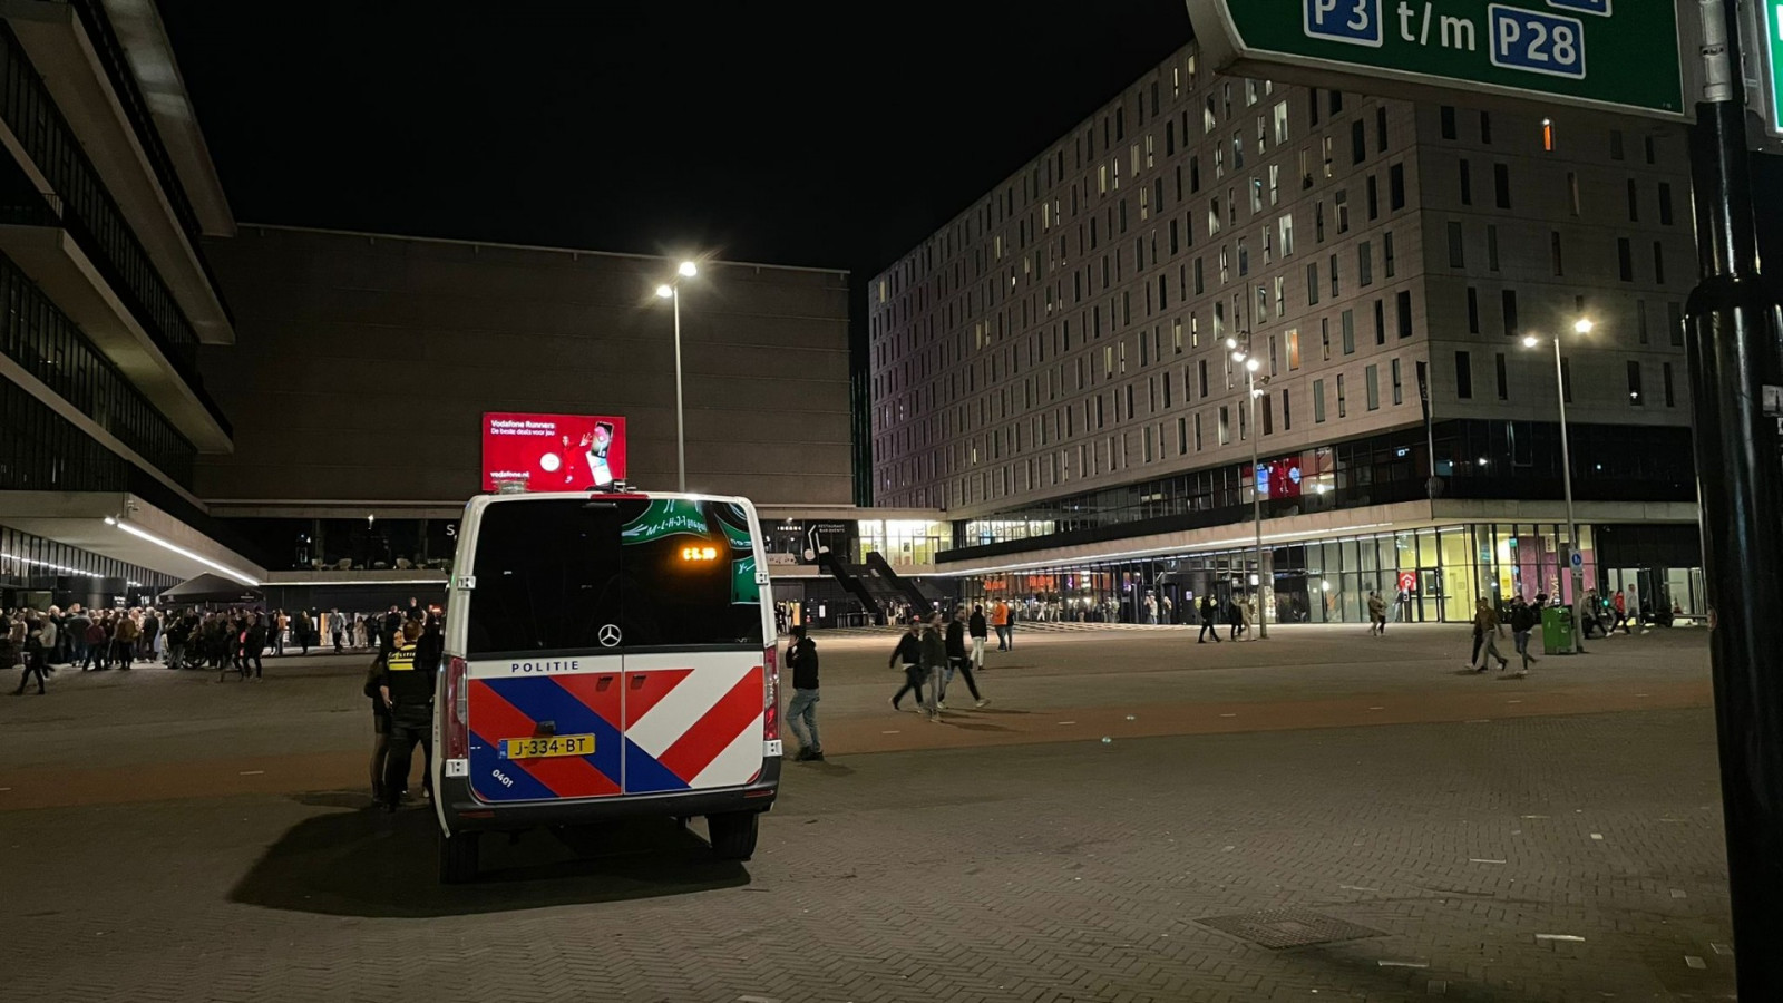
[[[0,605],[239,573],[193,493],[232,448],[196,352],[235,337],[201,250],[234,220],[155,7],[0,20]]]

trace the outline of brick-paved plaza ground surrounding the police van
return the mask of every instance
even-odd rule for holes
[[[1526,680],[1464,626],[1032,630],[941,723],[818,644],[752,862],[635,823],[453,889],[366,810],[362,655],[0,698],[0,999],[1733,998],[1699,630]]]

